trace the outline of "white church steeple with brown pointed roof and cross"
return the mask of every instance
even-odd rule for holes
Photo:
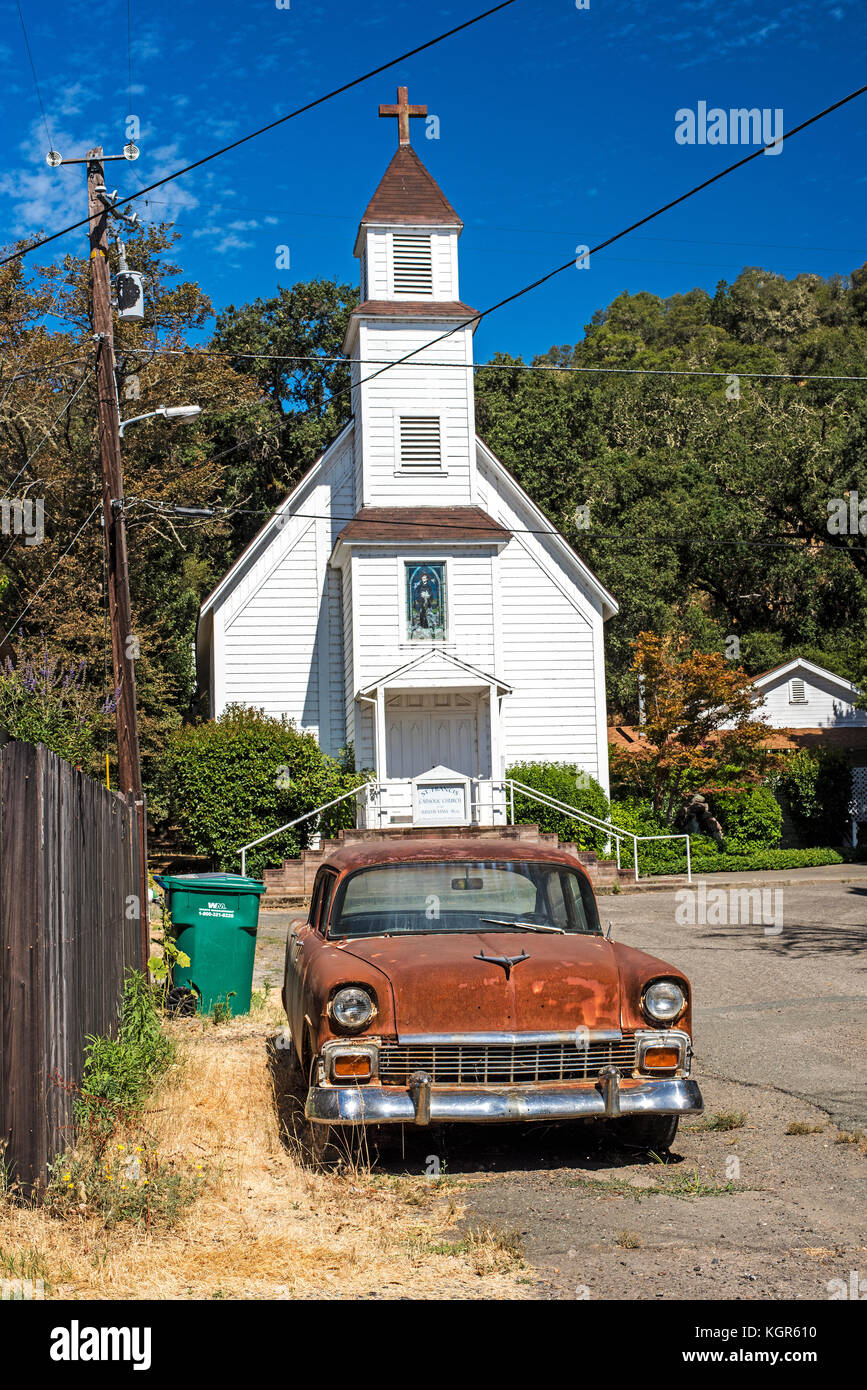
[[[463,222],[408,143],[410,118],[427,107],[411,107],[399,88],[397,104],[379,114],[399,118],[400,143],[356,239],[361,303],[345,341],[353,360],[356,492],[363,506],[470,506],[475,311],[459,293]],[[389,361],[395,367],[382,371]]]

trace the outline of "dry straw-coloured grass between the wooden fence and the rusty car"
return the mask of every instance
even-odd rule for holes
[[[274,1017],[268,1015],[274,1013]],[[517,1250],[456,1238],[460,1208],[425,1176],[382,1182],[364,1155],[314,1172],[281,1136],[267,1063],[276,1009],[170,1024],[179,1061],[144,1115],[200,1195],[171,1229],[108,1227],[0,1200],[0,1251],[61,1298],[520,1298]],[[126,1136],[133,1141],[135,1136]]]

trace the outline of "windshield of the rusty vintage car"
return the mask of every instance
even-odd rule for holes
[[[358,869],[336,894],[329,937],[439,931],[599,931],[593,891],[563,865],[439,860]]]

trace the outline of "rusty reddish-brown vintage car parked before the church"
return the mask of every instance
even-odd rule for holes
[[[666,1150],[703,1109],[689,981],[610,941],[581,863],[517,840],[338,849],[286,942],[283,1037],[311,1133],[614,1120]]]

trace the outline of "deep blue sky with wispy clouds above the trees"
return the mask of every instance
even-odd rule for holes
[[[119,153],[129,114],[126,0],[21,0],[54,145]],[[484,0],[132,0],[140,188],[485,8]],[[18,13],[0,29],[0,243],[83,213],[81,168],[50,170]],[[866,81],[863,0],[517,0],[140,203],[174,217],[176,259],[220,310],[317,275],[357,279],[358,218],[396,147],[397,83],[439,117],[413,143],[464,220],[461,293],[477,309],[710,177],[743,146],[679,145],[675,113],[782,108],[799,124]],[[575,342],[624,289],[671,295],[745,264],[793,275],[867,260],[867,96],[493,314],[477,359]],[[290,268],[275,265],[289,246]],[[82,232],[39,253],[83,249]],[[39,254],[36,259],[39,259]]]

